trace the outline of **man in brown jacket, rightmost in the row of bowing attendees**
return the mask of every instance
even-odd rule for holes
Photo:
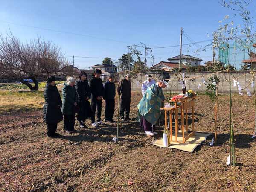
[[[124,79],[118,82],[117,93],[119,94],[120,100],[120,111],[119,114],[121,119],[131,120],[129,118],[130,114],[130,105],[131,105],[131,75],[127,74]],[[125,114],[124,114],[125,112]]]

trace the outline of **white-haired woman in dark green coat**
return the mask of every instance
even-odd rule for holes
[[[73,77],[68,77],[67,81],[62,88],[62,114],[64,115],[64,130],[66,133],[71,133],[76,131],[75,126],[75,108],[78,102],[78,96],[76,93],[75,79]]]

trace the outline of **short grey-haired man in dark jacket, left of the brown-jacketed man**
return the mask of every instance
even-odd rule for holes
[[[110,75],[108,77],[108,81],[104,84],[103,99],[106,102],[106,107],[105,107],[106,122],[113,122],[113,116],[115,112],[115,96],[116,96],[116,86],[114,83],[114,76]]]

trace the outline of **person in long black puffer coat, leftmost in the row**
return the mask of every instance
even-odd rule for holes
[[[43,119],[47,124],[48,137],[58,137],[60,134],[56,133],[58,122],[61,122],[63,117],[61,113],[61,96],[55,85],[55,77],[49,76],[47,84],[44,89],[44,107]]]

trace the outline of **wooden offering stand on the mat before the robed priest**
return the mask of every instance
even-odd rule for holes
[[[172,101],[174,102],[174,101]],[[177,103],[181,103],[181,105],[177,105]],[[171,108],[160,108],[160,110],[164,110],[165,115],[165,128],[167,129],[167,111],[169,111],[169,123],[170,123],[170,137],[172,140],[172,113],[175,113],[175,142],[185,143],[189,137],[195,135],[195,115],[194,115],[194,106],[195,106],[195,96],[194,97],[186,97],[181,99],[176,99],[174,102],[174,106]],[[178,109],[180,108],[180,119],[181,119],[181,134],[182,141],[178,141],[178,133],[179,133],[179,118],[178,118]],[[192,132],[188,133],[188,110],[192,109]],[[184,111],[186,115],[184,115]],[[186,132],[184,125],[184,116],[186,116]]]

